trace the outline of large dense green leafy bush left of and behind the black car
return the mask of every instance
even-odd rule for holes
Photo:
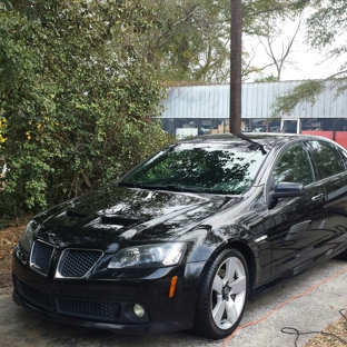
[[[2,214],[96,189],[171,141],[152,120],[162,96],[156,73],[123,44],[129,10],[148,26],[141,4],[42,3],[30,16],[0,12]]]

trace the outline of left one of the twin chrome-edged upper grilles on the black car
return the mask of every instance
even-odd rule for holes
[[[47,276],[53,251],[54,247],[51,245],[44,244],[40,240],[34,241],[31,249],[30,266],[34,270]]]

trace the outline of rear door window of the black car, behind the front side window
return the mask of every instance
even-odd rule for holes
[[[346,170],[343,158],[333,143],[325,141],[308,141],[308,143],[317,162],[320,178],[327,178]]]

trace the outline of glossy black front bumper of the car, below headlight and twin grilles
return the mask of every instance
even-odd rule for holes
[[[194,270],[192,270],[194,268]],[[56,279],[13,255],[13,300],[51,320],[122,334],[163,334],[192,327],[202,264],[161,269],[145,279]],[[169,297],[171,278],[178,276]],[[133,306],[145,308],[137,317]]]

